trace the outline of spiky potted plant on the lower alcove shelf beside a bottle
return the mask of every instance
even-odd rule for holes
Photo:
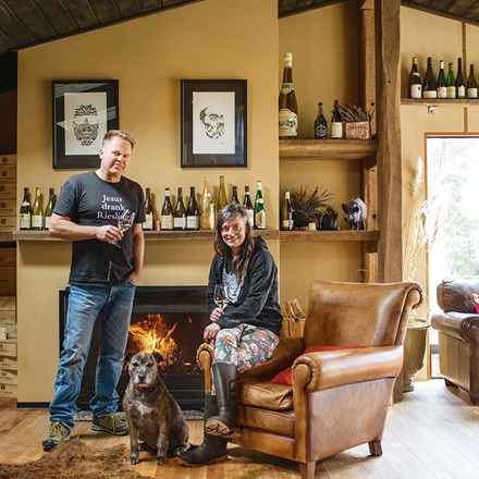
[[[295,230],[308,230],[309,223],[318,223],[321,207],[327,207],[328,201],[333,197],[327,189],[319,191],[317,186],[314,191],[303,185],[298,188],[285,188],[290,191],[291,206],[293,207],[293,223]]]

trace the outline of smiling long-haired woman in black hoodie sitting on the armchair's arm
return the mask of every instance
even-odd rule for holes
[[[237,373],[267,361],[279,343],[281,310],[278,267],[265,241],[254,237],[246,210],[228,205],[218,214],[216,256],[208,281],[211,323],[206,342],[214,341],[213,391],[205,397],[205,439],[182,453],[185,466],[202,466],[226,458],[228,438],[240,435],[237,427]],[[223,284],[229,303],[214,304],[214,286]]]

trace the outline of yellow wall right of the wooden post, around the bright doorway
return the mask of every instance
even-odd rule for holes
[[[412,65],[412,58],[417,57],[419,70],[423,77],[427,57],[432,57],[434,71],[439,72],[439,61],[444,60],[447,66],[453,62],[457,73],[457,58],[463,58],[466,75],[469,64],[479,62],[479,28],[466,25],[463,44],[463,26],[441,16],[431,15],[409,8],[401,9],[401,73],[402,98],[407,98],[407,82]],[[428,34],[425,35],[425,32]],[[444,41],[447,38],[447,41]],[[477,73],[476,73],[477,75]],[[467,76],[466,76],[467,77]],[[479,106],[479,103],[478,103]],[[403,105],[401,107],[402,152],[403,152],[403,245],[406,245],[409,229],[409,218],[414,205],[418,206],[425,199],[413,202],[408,188],[414,182],[417,158],[426,161],[426,135],[428,133],[472,133],[479,134],[479,109],[476,106],[441,105],[434,114],[428,114],[426,106]],[[414,216],[413,216],[414,218]],[[426,251],[422,251],[415,277],[427,288]],[[435,290],[427,291],[435,295]],[[428,302],[422,307],[422,315],[427,315]]]

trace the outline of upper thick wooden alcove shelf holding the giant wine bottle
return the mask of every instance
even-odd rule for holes
[[[377,139],[281,139],[280,160],[356,161],[376,157]]]

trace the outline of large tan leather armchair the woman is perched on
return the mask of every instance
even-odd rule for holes
[[[314,478],[316,462],[381,440],[410,309],[422,302],[417,283],[365,284],[318,281],[309,291],[304,337],[281,339],[267,363],[240,374],[238,423],[244,447],[299,463]],[[308,346],[363,346],[303,354]],[[198,363],[211,391],[213,347]],[[293,384],[270,382],[293,367]]]

